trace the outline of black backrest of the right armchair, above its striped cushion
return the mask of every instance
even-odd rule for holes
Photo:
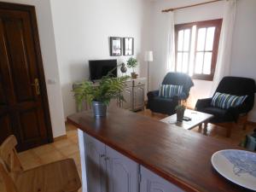
[[[251,110],[254,104],[256,85],[254,79],[241,77],[224,77],[218,84],[216,92],[234,96],[247,96],[244,104]]]

